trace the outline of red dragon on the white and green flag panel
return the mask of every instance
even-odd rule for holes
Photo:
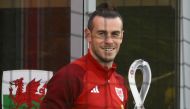
[[[16,79],[14,81],[10,82],[10,98],[13,100],[14,104],[16,105],[15,109],[19,109],[19,107],[26,103],[28,106],[27,109],[32,109],[34,104],[32,101],[41,103],[42,97],[45,95],[45,89],[47,84],[44,84],[42,88],[39,89],[38,87],[40,86],[40,81],[36,81],[33,79],[30,81],[27,86],[26,86],[26,91],[24,92],[24,83],[23,83],[23,78],[21,77],[20,79]],[[13,88],[12,85],[15,85],[16,89],[16,95],[13,95]]]

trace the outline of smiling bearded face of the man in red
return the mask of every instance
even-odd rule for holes
[[[112,64],[123,38],[123,24],[119,17],[96,16],[93,28],[86,32],[92,56],[101,64]]]

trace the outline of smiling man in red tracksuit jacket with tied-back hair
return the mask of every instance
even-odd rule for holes
[[[85,29],[88,53],[59,70],[48,83],[41,109],[124,109],[128,92],[114,64],[123,39],[118,12],[102,5]]]

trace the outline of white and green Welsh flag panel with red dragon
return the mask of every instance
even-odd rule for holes
[[[4,71],[2,109],[38,109],[52,75],[44,70]]]

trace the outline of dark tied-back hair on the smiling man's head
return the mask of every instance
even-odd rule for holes
[[[95,16],[101,16],[104,18],[116,18],[119,17],[123,23],[123,18],[120,15],[119,12],[116,11],[116,8],[111,6],[108,3],[102,3],[100,4],[98,7],[96,7],[96,10],[90,14],[89,20],[88,20],[88,29],[92,29],[93,28],[93,19]]]

